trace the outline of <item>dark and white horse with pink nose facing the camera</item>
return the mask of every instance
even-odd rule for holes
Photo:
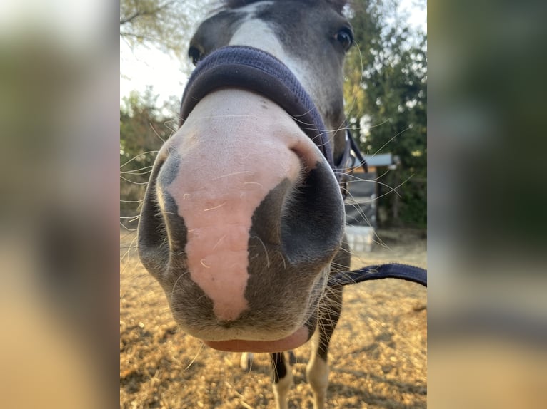
[[[175,321],[211,348],[270,353],[278,408],[292,383],[283,351],[309,340],[306,375],[324,408],[342,306],[328,281],[350,266],[344,6],[226,0],[201,23],[179,129],[139,219],[139,257]]]

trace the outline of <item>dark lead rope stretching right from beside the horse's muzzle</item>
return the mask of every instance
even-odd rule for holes
[[[348,286],[369,280],[401,279],[427,286],[427,271],[408,264],[380,264],[353,271],[342,271],[328,279],[328,286]]]

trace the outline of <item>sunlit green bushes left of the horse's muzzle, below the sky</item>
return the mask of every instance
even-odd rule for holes
[[[177,126],[171,106],[162,113],[157,98],[148,88],[144,95],[131,93],[120,107],[120,214],[125,217],[138,214],[156,152]]]

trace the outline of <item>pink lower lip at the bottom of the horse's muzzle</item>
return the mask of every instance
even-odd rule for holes
[[[230,339],[227,341],[204,341],[209,346],[219,351],[229,352],[281,352],[298,348],[309,339],[309,330],[303,326],[291,335],[276,341],[251,341],[246,339]]]

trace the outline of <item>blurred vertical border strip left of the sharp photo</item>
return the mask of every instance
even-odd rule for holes
[[[0,390],[118,395],[119,43],[110,1],[0,4]]]

